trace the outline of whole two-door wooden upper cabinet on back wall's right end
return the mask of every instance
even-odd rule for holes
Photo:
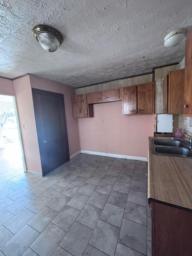
[[[123,87],[123,115],[154,114],[154,83]]]

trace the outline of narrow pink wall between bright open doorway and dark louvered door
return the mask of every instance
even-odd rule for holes
[[[42,173],[29,76],[18,78],[14,80],[13,83],[18,106],[20,125],[21,127],[22,124],[25,125],[25,129],[21,129],[21,132],[27,170]]]

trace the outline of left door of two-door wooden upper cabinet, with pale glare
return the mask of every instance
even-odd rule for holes
[[[123,88],[123,115],[137,114],[137,86]]]

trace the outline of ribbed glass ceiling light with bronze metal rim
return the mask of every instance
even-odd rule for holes
[[[58,30],[46,25],[35,26],[33,36],[41,47],[49,53],[55,52],[63,42],[63,37]]]

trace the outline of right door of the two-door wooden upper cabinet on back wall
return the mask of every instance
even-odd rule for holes
[[[153,83],[137,85],[137,113],[153,113]]]

